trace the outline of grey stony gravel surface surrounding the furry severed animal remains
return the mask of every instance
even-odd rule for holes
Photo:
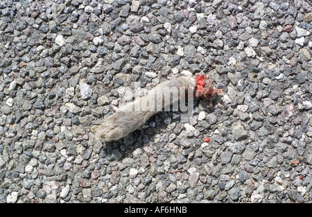
[[[2,1],[0,202],[312,202],[311,25],[304,0]],[[94,141],[135,82],[196,73],[224,95],[190,120]]]

